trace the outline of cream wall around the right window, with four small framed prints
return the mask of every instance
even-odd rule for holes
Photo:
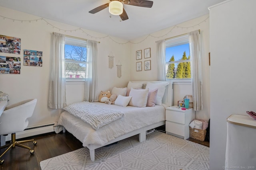
[[[184,33],[189,33],[200,29],[202,42],[202,94],[203,94],[203,110],[196,111],[196,118],[209,120],[210,118],[210,66],[208,60],[209,53],[209,16],[202,16],[194,20],[189,20],[178,25],[173,25],[161,31],[151,33],[148,36],[140,37],[132,40],[131,44],[131,60],[130,60],[130,74],[132,80],[157,80],[157,57],[156,57],[156,41],[161,39],[168,39]],[[166,21],[168,22],[168,21]],[[144,49],[151,48],[151,58],[144,59]],[[136,60],[136,51],[142,50],[142,60]],[[136,71],[136,62],[151,60],[151,70]],[[181,91],[184,88],[184,91]],[[183,83],[180,85],[174,84],[174,104],[178,100],[183,100],[185,94],[192,94],[191,83]]]

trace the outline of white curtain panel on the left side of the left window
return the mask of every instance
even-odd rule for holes
[[[53,33],[52,43],[52,75],[48,106],[61,109],[66,106],[65,79],[65,35]]]

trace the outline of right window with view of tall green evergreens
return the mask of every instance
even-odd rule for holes
[[[166,40],[166,79],[190,79],[188,34]]]

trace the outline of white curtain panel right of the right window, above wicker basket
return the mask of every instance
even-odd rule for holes
[[[198,30],[188,33],[192,59],[192,86],[194,110],[202,110],[201,41]]]

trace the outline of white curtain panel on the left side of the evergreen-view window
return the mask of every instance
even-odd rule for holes
[[[166,81],[166,59],[165,59],[165,40],[156,41],[156,51],[158,59],[158,80]]]

